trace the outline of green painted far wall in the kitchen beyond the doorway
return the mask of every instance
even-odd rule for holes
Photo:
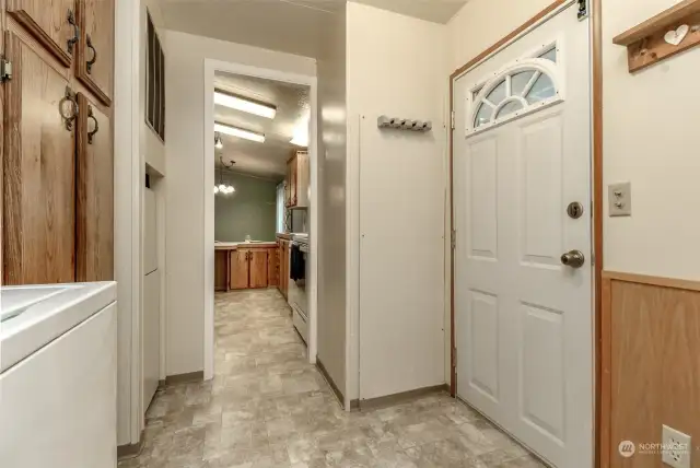
[[[219,172],[215,174],[219,183]],[[224,182],[236,189],[214,197],[214,238],[222,242],[275,241],[277,183],[225,173]]]

